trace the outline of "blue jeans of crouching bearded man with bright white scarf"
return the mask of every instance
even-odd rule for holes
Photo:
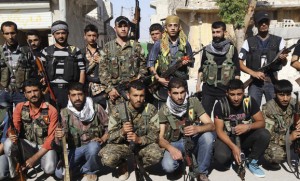
[[[91,141],[86,145],[71,149],[68,157],[70,170],[73,172],[73,175],[76,175],[77,170],[80,174],[96,174],[101,166],[100,157],[98,156],[100,149],[101,145],[96,141]],[[55,176],[62,179],[63,169],[57,168]]]

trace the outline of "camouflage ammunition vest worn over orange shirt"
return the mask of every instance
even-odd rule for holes
[[[27,139],[30,142],[42,145],[48,136],[48,126],[50,124],[48,109],[49,103],[46,102],[47,108],[44,108],[40,112],[40,116],[37,119],[30,117],[29,106],[23,105],[21,112],[21,137]]]

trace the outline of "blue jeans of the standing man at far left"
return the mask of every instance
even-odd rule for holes
[[[21,92],[8,92],[5,90],[0,90],[0,105],[7,107],[10,103],[17,105],[20,102],[26,101],[26,98]],[[12,107],[12,105],[10,105]]]

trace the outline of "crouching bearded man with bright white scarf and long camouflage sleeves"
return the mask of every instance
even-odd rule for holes
[[[85,96],[83,84],[70,83],[68,91],[67,107],[60,113],[63,128],[56,128],[55,137],[62,138],[66,131],[71,176],[84,174],[84,180],[94,181],[101,166],[98,152],[108,138],[108,116],[99,104]],[[63,178],[63,173],[61,167],[55,171],[58,178]]]

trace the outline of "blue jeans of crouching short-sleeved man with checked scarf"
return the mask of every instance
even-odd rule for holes
[[[199,173],[208,173],[208,168],[210,166],[213,153],[214,139],[215,136],[212,132],[202,133],[192,138],[193,142],[195,143],[194,154],[197,159]],[[184,155],[183,138],[176,142],[171,142],[171,145],[180,150]],[[181,160],[173,160],[171,154],[168,151],[165,151],[162,159],[162,167],[167,173],[174,172],[182,163],[183,162]]]

